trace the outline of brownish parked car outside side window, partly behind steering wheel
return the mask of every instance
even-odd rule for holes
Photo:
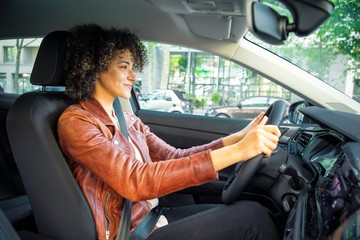
[[[268,96],[247,97],[233,105],[210,108],[205,112],[205,116],[252,119],[261,111],[266,111],[276,100],[285,101],[289,108],[290,102],[282,98]]]

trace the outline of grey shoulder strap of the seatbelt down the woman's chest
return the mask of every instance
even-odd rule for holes
[[[114,111],[116,117],[119,121],[121,133],[129,138],[124,113],[122,111],[119,98],[115,98],[113,103]],[[129,231],[130,231],[130,216],[131,216],[131,201],[124,198],[124,207],[121,213],[121,219],[119,223],[118,233],[116,234],[116,240],[128,240],[129,239]]]

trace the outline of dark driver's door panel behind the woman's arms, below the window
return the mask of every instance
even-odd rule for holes
[[[249,120],[224,119],[188,114],[172,114],[150,110],[138,110],[136,115],[148,125],[152,132],[170,145],[178,148],[208,143],[230,133],[243,129]],[[214,203],[221,201],[221,192],[227,177],[232,172],[230,166],[219,172],[219,179],[201,186],[184,189],[165,196],[166,205],[178,206],[193,203]],[[176,197],[174,197],[176,196]]]

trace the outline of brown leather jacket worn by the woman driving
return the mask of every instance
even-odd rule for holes
[[[133,231],[150,211],[145,200],[217,178],[210,149],[222,147],[221,139],[176,149],[136,116],[125,113],[125,119],[144,163],[96,100],[68,107],[58,122],[60,146],[90,205],[99,239],[115,238],[123,197],[133,201]]]

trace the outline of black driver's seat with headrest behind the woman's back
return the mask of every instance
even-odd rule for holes
[[[33,85],[65,86],[67,36],[56,31],[43,39],[31,74]],[[7,131],[38,233],[54,239],[97,239],[90,208],[57,142],[57,120],[71,103],[59,91],[25,93],[8,113]]]

